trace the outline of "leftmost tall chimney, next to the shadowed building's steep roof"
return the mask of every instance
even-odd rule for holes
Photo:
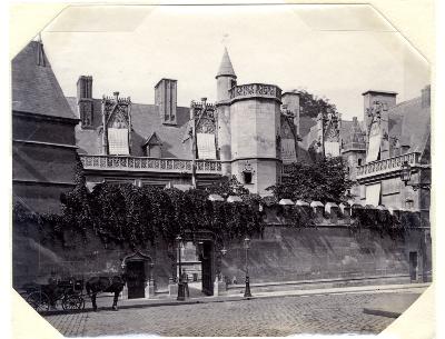
[[[81,128],[92,128],[93,104],[92,104],[92,77],[80,76],[77,80],[77,106]]]

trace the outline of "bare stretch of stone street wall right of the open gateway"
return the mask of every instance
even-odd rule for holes
[[[369,229],[350,231],[346,227],[332,226],[303,229],[275,226],[267,227],[263,238],[251,239],[249,275],[254,283],[390,276],[407,278],[409,252],[417,252],[419,280],[422,272],[431,275],[431,247],[425,243],[423,230],[412,230],[404,237],[392,239]],[[231,245],[222,258],[221,273],[243,282],[245,255],[243,243]]]

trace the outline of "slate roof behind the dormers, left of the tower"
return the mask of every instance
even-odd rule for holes
[[[67,98],[71,111],[78,117],[77,99]],[[93,128],[76,129],[76,143],[80,153],[101,154],[101,100],[93,99]],[[142,146],[155,132],[162,141],[162,158],[191,159],[190,142],[182,142],[189,119],[189,108],[177,108],[177,126],[164,124],[155,104],[131,103],[131,156],[144,157]]]

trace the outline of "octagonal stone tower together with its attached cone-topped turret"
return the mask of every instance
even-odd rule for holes
[[[280,180],[281,90],[274,84],[237,86],[227,49],[217,79],[218,144],[225,176],[235,176],[250,192]]]

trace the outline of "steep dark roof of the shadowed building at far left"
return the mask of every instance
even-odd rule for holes
[[[39,62],[39,49],[40,61]],[[40,63],[40,64],[39,64]],[[41,42],[31,41],[13,59],[12,110],[75,119]]]

